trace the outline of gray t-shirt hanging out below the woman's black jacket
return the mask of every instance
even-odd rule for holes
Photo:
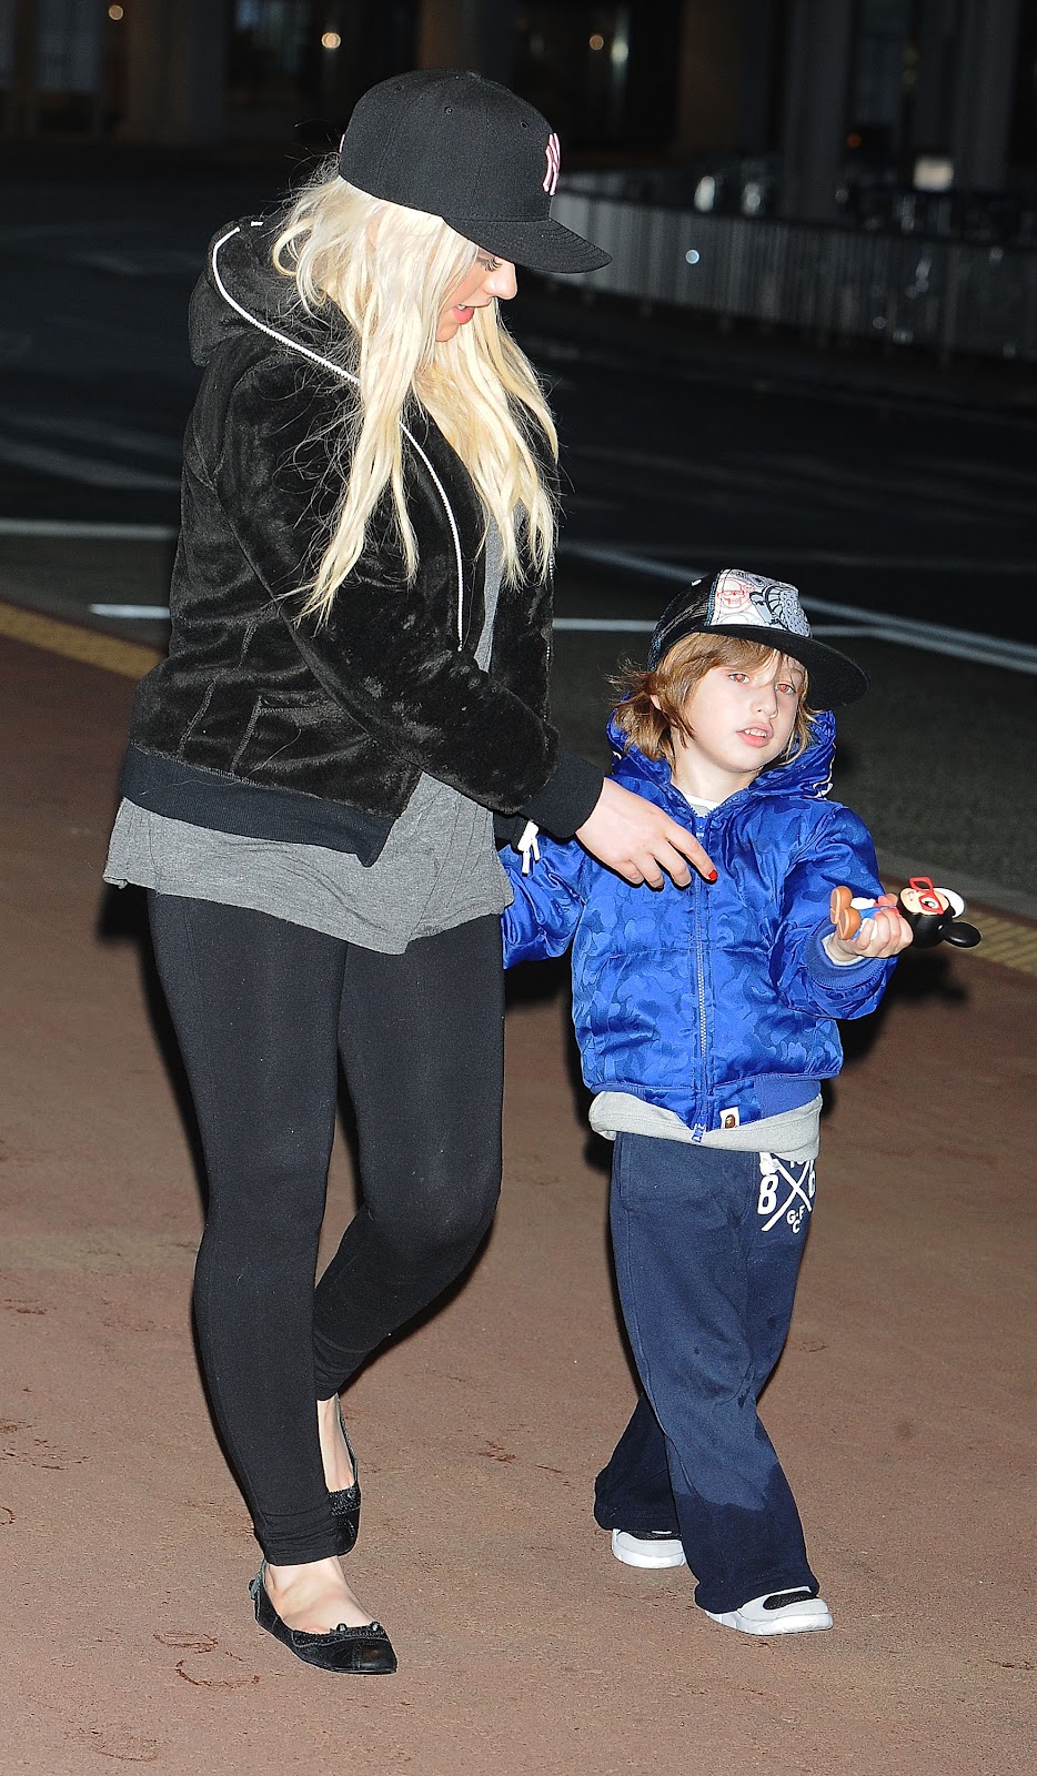
[[[501,591],[503,551],[487,535],[487,618],[476,661],[487,671]],[[382,854],[364,867],[343,851],[241,838],[170,821],[131,801],[115,815],[105,881],[156,893],[218,900],[309,925],[387,955],[511,900],[488,808],[423,776]]]

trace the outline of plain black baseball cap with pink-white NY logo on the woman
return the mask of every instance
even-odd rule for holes
[[[597,272],[609,254],[550,220],[559,147],[547,117],[456,67],[392,75],[357,101],[339,172],[369,197],[442,217],[533,272]]]

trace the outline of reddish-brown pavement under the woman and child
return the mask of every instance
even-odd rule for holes
[[[561,975],[515,979],[488,1250],[346,1401],[357,1584],[401,1671],[336,1682],[250,1623],[194,1362],[178,1076],[140,908],[99,888],[121,668],[0,636],[0,1771],[1028,1771],[1037,979],[984,948],[907,959],[852,1030],[765,1408],[836,1629],[787,1645],[708,1623],[685,1574],[618,1566],[591,1524],[632,1401],[606,1170]],[[325,1252],[350,1202],[339,1142]]]

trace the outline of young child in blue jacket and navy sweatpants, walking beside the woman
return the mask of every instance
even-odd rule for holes
[[[643,1394],[595,1517],[630,1566],[687,1559],[696,1604],[746,1634],[831,1627],[756,1399],[813,1211],[835,1019],[874,1011],[911,941],[868,833],[827,801],[829,710],[867,687],[811,638],[794,586],[733,568],[696,581],[609,735],[618,781],[694,828],[717,881],[632,888],[534,833],[504,852],[506,961],[572,943],[591,1126],[616,1142],[613,1249]],[[852,941],[827,911],[842,884],[881,897]]]

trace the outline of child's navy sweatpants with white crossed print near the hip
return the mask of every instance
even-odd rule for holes
[[[781,1355],[813,1165],[620,1135],[613,1247],[645,1394],[598,1474],[604,1529],[669,1529],[703,1609],[817,1595],[756,1399]]]

